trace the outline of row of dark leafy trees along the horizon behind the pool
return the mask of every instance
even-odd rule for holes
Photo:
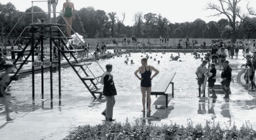
[[[159,36],[170,38],[181,38],[186,35],[191,38],[222,38],[227,39],[232,37],[233,39],[245,39],[256,38],[256,17],[250,18],[247,16],[240,16],[239,2],[242,0],[216,0],[221,6],[217,4],[208,4],[207,9],[216,10],[218,15],[226,15],[227,19],[221,19],[220,21],[205,21],[198,18],[193,22],[183,23],[170,23],[166,17],[161,14],[148,13],[143,14],[137,12],[134,15],[133,26],[125,26],[125,13],[122,17],[118,17],[116,12],[106,13],[103,10],[95,10],[93,7],[82,8],[76,11],[76,18],[73,22],[73,29],[80,34],[82,33],[81,24],[83,23],[86,31],[86,36],[89,38],[99,37],[120,37],[120,35],[137,37],[154,37]],[[231,2],[233,1],[233,2]],[[230,3],[229,3],[230,2]],[[225,6],[224,4],[227,4]],[[253,15],[252,9],[248,8],[248,11]],[[42,12],[39,7],[34,7],[34,11]],[[31,12],[31,8],[28,8],[25,12]],[[11,3],[0,3],[0,21],[4,32],[8,33],[14,24],[19,20],[23,12],[16,10],[15,6]],[[32,22],[31,14],[26,14],[21,19],[18,26],[15,28],[14,33],[20,33],[22,29],[28,26]],[[37,19],[47,18],[47,14],[35,14],[34,21]],[[79,20],[81,19],[81,21]],[[239,21],[237,21],[239,19]],[[62,17],[57,17],[58,23],[63,23]],[[0,27],[1,28],[1,27]]]

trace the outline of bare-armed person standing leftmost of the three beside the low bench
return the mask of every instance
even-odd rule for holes
[[[206,60],[203,60],[202,64],[197,68],[196,75],[197,75],[197,84],[198,84],[198,92],[199,96],[201,97],[201,86],[204,84],[204,74],[206,72],[206,64],[208,62]],[[205,97],[205,94],[204,94]]]

